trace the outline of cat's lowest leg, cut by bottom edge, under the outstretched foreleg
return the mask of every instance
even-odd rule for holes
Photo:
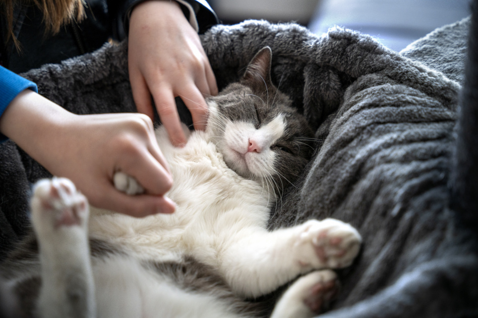
[[[323,312],[339,290],[337,274],[322,270],[300,277],[279,299],[271,318],[309,318]]]

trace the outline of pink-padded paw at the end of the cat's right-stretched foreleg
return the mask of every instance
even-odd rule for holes
[[[339,220],[325,219],[304,223],[295,247],[301,253],[300,266],[338,269],[352,264],[360,244],[360,234],[354,227]]]

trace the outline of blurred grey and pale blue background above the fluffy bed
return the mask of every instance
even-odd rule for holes
[[[225,24],[297,22],[315,34],[339,25],[400,51],[435,28],[469,15],[469,0],[209,0]]]

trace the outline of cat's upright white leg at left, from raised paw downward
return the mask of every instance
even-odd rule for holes
[[[42,268],[39,316],[95,317],[86,198],[67,179],[41,180],[34,187],[31,213]]]

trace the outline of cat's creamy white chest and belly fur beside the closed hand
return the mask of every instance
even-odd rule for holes
[[[137,219],[92,208],[91,237],[144,259],[177,261],[184,254],[214,259],[235,232],[266,227],[272,202],[268,192],[230,170],[203,133],[191,134],[183,148],[161,147],[173,174],[167,196],[176,202],[176,212]]]

